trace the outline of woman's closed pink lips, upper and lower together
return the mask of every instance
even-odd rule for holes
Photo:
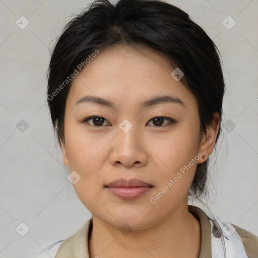
[[[150,191],[153,188],[153,185],[137,178],[132,178],[130,180],[120,178],[108,183],[105,185],[105,188],[118,198],[134,200]]]

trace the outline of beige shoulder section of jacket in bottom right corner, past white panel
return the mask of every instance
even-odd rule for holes
[[[258,236],[230,223],[241,237],[248,258],[258,258]]]

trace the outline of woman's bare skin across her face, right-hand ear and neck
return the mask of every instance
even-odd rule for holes
[[[188,257],[197,258],[201,246],[199,221],[187,210],[189,188],[200,158],[158,200],[150,202],[170,179],[198,153],[211,154],[219,126],[215,113],[198,148],[200,118],[196,97],[170,73],[167,60],[151,49],[115,45],[102,50],[75,77],[64,115],[63,163],[81,179],[77,196],[92,213],[89,254],[93,258]],[[170,95],[177,103],[142,108],[156,96]],[[85,95],[113,102],[117,110],[76,101]],[[89,116],[105,118],[82,121]],[[152,120],[156,116],[173,118]],[[127,119],[133,127],[123,132]],[[97,124],[97,125],[96,125]],[[115,197],[104,186],[118,178],[138,178],[154,187],[136,200]],[[119,230],[127,223],[132,231]]]

